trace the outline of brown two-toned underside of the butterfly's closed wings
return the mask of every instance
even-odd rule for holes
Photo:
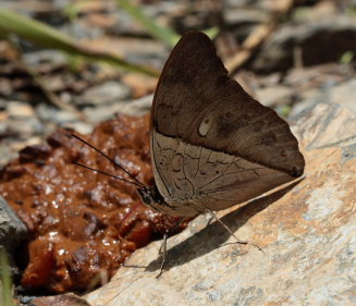
[[[305,166],[289,124],[228,76],[198,32],[182,37],[163,69],[150,140],[156,184],[173,215],[228,208],[300,176]]]

